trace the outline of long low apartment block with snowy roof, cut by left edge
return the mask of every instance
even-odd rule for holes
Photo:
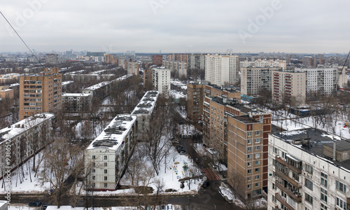
[[[13,171],[50,142],[55,115],[40,113],[0,130],[0,179],[6,169]],[[6,148],[10,148],[6,157]],[[8,158],[8,160],[6,160]]]

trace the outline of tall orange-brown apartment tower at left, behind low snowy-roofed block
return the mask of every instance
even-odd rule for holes
[[[20,76],[20,120],[36,113],[55,113],[62,107],[62,73],[58,68]]]

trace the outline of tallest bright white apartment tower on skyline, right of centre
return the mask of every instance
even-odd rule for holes
[[[214,85],[235,84],[239,81],[237,55],[206,55],[205,80]]]

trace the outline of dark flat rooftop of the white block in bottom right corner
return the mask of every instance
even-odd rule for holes
[[[323,145],[333,147],[333,140],[336,141],[337,151],[344,151],[348,148],[350,149],[350,140],[344,139],[342,137],[328,134],[323,130],[314,129],[312,127],[302,130],[293,130],[286,132],[276,132],[272,134],[286,143],[291,144],[297,148],[300,148],[302,151],[305,151],[311,155],[316,155],[319,158],[326,160],[338,167],[343,167],[344,169],[350,170],[350,160],[344,160],[342,162],[334,161],[332,158],[323,155]],[[293,144],[293,141],[300,141],[304,139],[309,139],[309,145]]]

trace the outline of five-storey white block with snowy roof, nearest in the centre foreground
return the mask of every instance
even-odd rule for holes
[[[86,190],[116,190],[136,140],[137,116],[120,114],[85,149]]]

